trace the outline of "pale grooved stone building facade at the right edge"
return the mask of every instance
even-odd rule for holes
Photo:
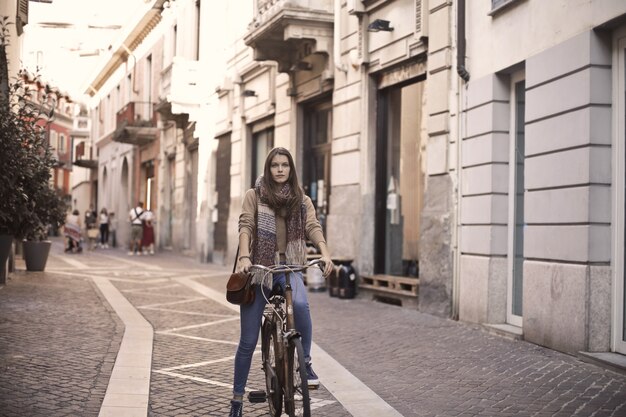
[[[625,353],[626,3],[465,12],[460,318],[566,352]]]

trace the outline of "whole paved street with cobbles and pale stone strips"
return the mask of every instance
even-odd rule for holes
[[[226,416],[239,319],[223,301],[228,275],[170,253],[66,255],[55,242],[45,273],[18,271],[0,289],[0,417]],[[322,382],[313,416],[626,416],[621,374],[406,308],[309,298]],[[123,380],[111,379],[119,362],[148,356],[132,351],[133,334],[152,346],[149,392],[110,396],[143,383],[110,384]],[[246,403],[244,415],[266,405]]]

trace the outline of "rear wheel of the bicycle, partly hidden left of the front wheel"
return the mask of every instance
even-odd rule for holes
[[[277,354],[277,324],[273,320],[265,319],[261,327],[261,356],[263,372],[265,372],[265,387],[270,416],[280,417],[283,411],[283,389],[280,384],[276,364],[280,363]]]

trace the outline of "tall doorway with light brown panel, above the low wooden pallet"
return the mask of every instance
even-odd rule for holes
[[[376,140],[374,272],[417,277],[424,196],[424,82],[380,91]]]

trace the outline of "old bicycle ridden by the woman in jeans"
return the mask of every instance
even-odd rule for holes
[[[269,297],[261,291],[267,301],[261,324],[261,357],[267,391],[254,391],[249,395],[250,402],[267,401],[272,417],[280,417],[283,403],[290,417],[311,415],[304,350],[293,316],[291,275],[320,264],[316,259],[305,265],[251,266],[251,270],[266,274],[285,274],[284,291],[272,289]]]

